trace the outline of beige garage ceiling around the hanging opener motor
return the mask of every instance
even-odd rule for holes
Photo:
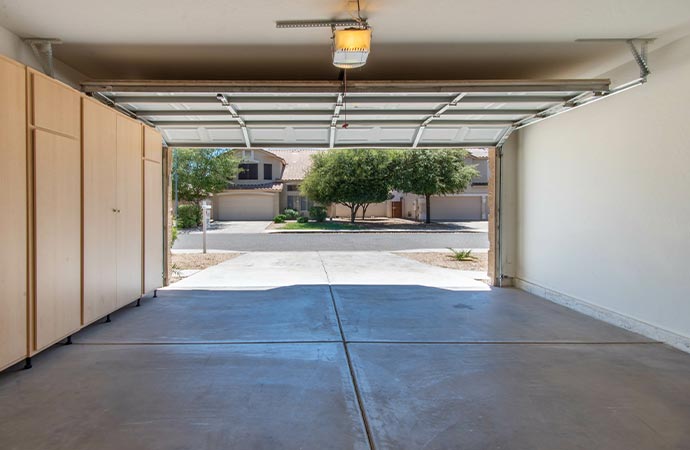
[[[596,77],[606,70],[591,63],[625,63],[627,49],[575,39],[659,37],[690,20],[687,0],[362,0],[362,8],[372,54],[353,80]],[[348,0],[0,0],[0,25],[62,39],[56,58],[94,79],[335,80],[330,30],[278,30],[275,21],[355,10]]]

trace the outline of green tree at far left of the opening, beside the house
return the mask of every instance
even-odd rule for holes
[[[179,199],[199,203],[224,191],[238,174],[239,162],[231,149],[176,148],[172,172]]]

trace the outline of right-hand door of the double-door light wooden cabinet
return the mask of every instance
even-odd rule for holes
[[[141,296],[142,125],[117,117],[117,307]]]

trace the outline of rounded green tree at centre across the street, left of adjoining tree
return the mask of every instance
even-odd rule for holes
[[[317,153],[312,156],[312,166],[300,191],[323,205],[346,206],[350,209],[350,222],[354,222],[360,209],[364,217],[371,203],[390,198],[394,155],[390,150],[374,149]]]

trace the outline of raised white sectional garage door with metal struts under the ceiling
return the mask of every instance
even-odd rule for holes
[[[608,80],[83,84],[178,147],[486,147],[609,92]],[[343,124],[347,123],[347,127]]]

